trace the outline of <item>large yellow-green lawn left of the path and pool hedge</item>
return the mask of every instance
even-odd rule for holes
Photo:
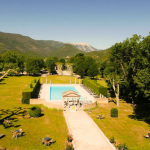
[[[9,150],[63,150],[67,140],[68,129],[63,113],[47,109],[40,105],[42,116],[29,118],[28,108],[31,105],[21,104],[22,90],[35,77],[8,77],[0,82],[0,146]],[[10,126],[3,124],[4,119],[12,121]],[[12,139],[11,130],[22,128],[24,136]],[[56,141],[50,147],[40,145],[40,138],[50,135]]]

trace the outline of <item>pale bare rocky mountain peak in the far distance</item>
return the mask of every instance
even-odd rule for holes
[[[98,51],[98,49],[96,49],[96,48],[94,48],[91,45],[86,44],[86,43],[69,43],[69,44],[75,46],[76,48],[78,48],[84,52]]]

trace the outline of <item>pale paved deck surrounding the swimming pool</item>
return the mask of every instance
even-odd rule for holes
[[[79,84],[42,84],[40,99],[42,98],[49,103],[63,105],[62,100],[50,100],[50,86],[74,86],[85,100],[91,100],[94,102],[94,97],[90,95],[85,89],[83,89]]]

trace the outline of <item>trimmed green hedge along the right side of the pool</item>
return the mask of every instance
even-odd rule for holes
[[[94,80],[86,78],[86,79],[82,80],[82,84],[84,84],[86,87],[91,89],[97,95],[100,95],[100,93],[101,93],[105,97],[108,97],[108,89],[107,89],[107,87],[104,87],[104,86],[98,84]]]

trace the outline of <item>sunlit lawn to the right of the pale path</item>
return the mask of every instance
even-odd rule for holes
[[[114,103],[100,104],[100,107],[93,110],[89,115],[109,139],[114,136],[117,143],[126,143],[129,150],[149,150],[150,140],[143,136],[150,131],[150,127],[143,121],[128,117],[133,115],[131,104],[120,102],[120,106],[117,107],[119,110],[118,118],[110,117],[112,107],[117,106]],[[105,119],[96,119],[98,114],[105,115]]]

